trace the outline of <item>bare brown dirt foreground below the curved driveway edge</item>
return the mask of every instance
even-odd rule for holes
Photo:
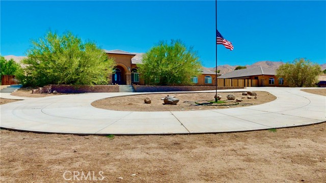
[[[0,139],[1,182],[326,182],[326,123],[164,136],[1,130]]]

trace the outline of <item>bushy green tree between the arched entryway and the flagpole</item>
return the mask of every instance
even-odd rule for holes
[[[187,48],[180,40],[159,42],[144,54],[143,63],[137,67],[145,82],[154,85],[189,85],[190,78],[201,70],[193,47]]]

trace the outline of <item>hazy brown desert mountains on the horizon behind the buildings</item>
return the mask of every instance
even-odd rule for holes
[[[13,58],[17,63],[20,63],[20,61],[23,58],[26,58],[26,56],[15,56],[15,55],[7,55],[4,56],[6,59],[11,59]],[[273,62],[273,61],[260,61],[260,62],[256,62],[252,65],[246,65],[247,68],[253,68],[253,67],[265,67],[265,68],[269,68],[269,69],[278,69],[282,64],[285,64],[283,62]],[[230,66],[230,65],[221,65],[218,66],[218,70],[220,70],[221,74],[226,74],[229,73],[231,71],[234,71],[234,69],[239,66]],[[320,64],[321,70],[326,69],[326,64]],[[204,68],[205,70],[209,70],[209,71],[215,71],[215,67],[214,68]]]

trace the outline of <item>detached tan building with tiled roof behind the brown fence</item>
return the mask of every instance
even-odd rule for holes
[[[234,70],[219,79],[256,79],[258,86],[287,86],[283,78],[276,77],[276,70],[265,67]]]

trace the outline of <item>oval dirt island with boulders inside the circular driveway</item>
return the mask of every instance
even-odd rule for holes
[[[230,92],[218,93],[222,96],[222,100],[227,100],[226,96]],[[183,93],[183,94],[144,94],[135,96],[123,96],[106,98],[95,101],[92,106],[102,109],[121,110],[121,111],[182,111],[182,110],[207,110],[207,109],[223,109],[231,107],[243,107],[249,105],[258,105],[266,102],[270,102],[276,99],[274,95],[268,92],[256,92],[257,99],[252,96],[252,99],[247,99],[248,96],[242,96],[242,92],[232,93],[236,99],[242,99],[239,105],[233,106],[203,106],[196,105],[194,101],[198,100],[211,100],[214,101],[215,93]],[[164,105],[161,98],[165,98],[167,95],[175,96],[180,101],[177,105]],[[149,97],[151,104],[145,104],[144,99]]]

